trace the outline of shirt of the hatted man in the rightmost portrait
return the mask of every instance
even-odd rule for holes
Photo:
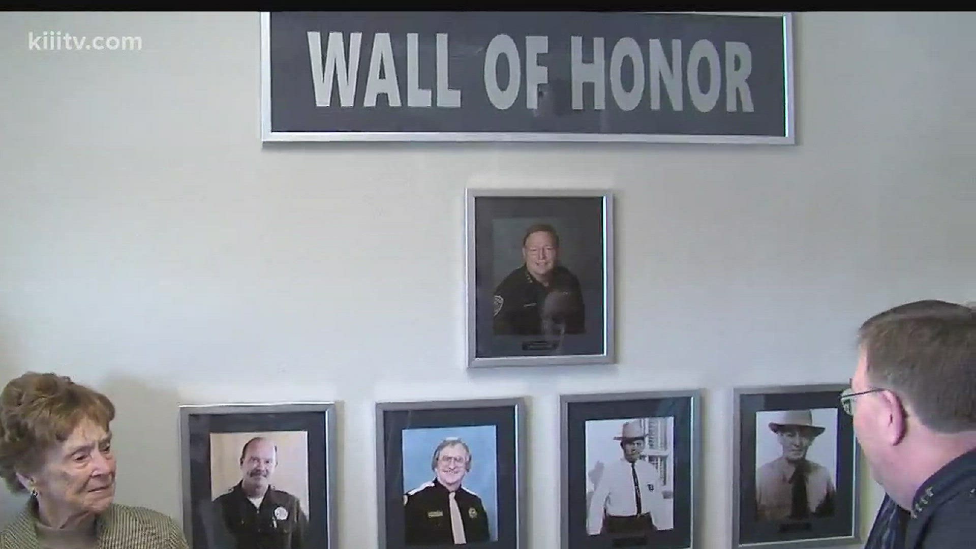
[[[809,517],[833,514],[834,482],[826,467],[804,460]],[[796,468],[783,456],[759,467],[755,473],[755,512],[759,521],[782,521],[793,512],[793,473]],[[802,474],[802,471],[801,471]]]

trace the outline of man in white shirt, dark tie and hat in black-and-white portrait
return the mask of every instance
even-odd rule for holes
[[[587,451],[593,446],[603,446],[609,452],[610,440],[590,440],[588,422]],[[642,534],[657,529],[670,529],[669,506],[666,500],[662,476],[650,463],[645,453],[648,433],[645,420],[618,420],[619,432],[612,438],[616,442],[615,458],[598,460],[590,469],[593,489],[587,512],[587,531],[590,535],[603,533]],[[592,453],[596,453],[595,450]],[[604,455],[608,453],[600,452]],[[588,468],[590,468],[589,457]]]

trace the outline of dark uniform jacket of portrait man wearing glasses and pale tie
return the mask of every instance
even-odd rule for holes
[[[451,492],[436,479],[404,495],[403,521],[407,545],[453,544]],[[454,495],[467,543],[489,541],[488,514],[481,498],[461,486]]]

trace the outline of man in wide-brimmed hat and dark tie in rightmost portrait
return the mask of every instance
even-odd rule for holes
[[[768,416],[766,415],[768,414]],[[834,515],[834,481],[830,469],[807,453],[825,427],[815,425],[809,409],[763,412],[767,427],[782,448],[776,459],[755,474],[757,521],[809,520]],[[761,435],[756,433],[756,441]]]

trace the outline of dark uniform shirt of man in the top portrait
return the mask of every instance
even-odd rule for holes
[[[565,318],[566,333],[584,333],[583,293],[576,275],[565,267],[556,266],[547,287],[533,278],[523,265],[508,274],[495,288],[492,310],[495,334],[543,335],[541,310],[546,295],[552,290],[568,291],[576,302],[574,314]]]

